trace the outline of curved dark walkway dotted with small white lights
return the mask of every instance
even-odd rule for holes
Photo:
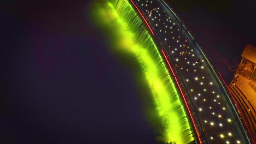
[[[162,0],[130,2],[166,58],[197,143],[254,143],[222,76],[183,21]]]

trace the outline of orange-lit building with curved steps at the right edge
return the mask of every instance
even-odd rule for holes
[[[229,88],[256,140],[256,47],[247,44]]]

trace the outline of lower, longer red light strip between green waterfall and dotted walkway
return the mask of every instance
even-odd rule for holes
[[[171,70],[172,70],[172,67],[171,67],[170,62],[168,61],[168,59],[167,59],[167,57],[166,57],[166,55],[165,55],[165,52],[164,52],[163,50],[161,50],[161,51],[162,51],[162,53],[164,54],[165,59],[166,59],[168,65],[169,65],[169,67],[170,67]],[[187,106],[187,109],[188,109],[188,111],[189,111],[189,115],[190,115],[190,117],[191,117],[191,119],[192,119],[194,128],[195,128],[196,133],[197,133],[197,137],[198,137],[198,139],[199,139],[199,142],[202,144],[202,140],[200,139],[200,134],[199,134],[198,129],[197,129],[196,125],[195,125],[194,119],[193,119],[193,117],[192,117],[191,111],[190,111],[189,106],[188,106],[188,103],[187,103],[187,100],[185,99],[185,96],[184,96],[184,94],[183,94],[183,92],[182,92],[181,86],[179,86],[179,82],[178,82],[178,80],[177,80],[177,78],[176,78],[176,76],[175,76],[173,70],[172,70],[172,74],[173,74],[173,76],[174,76],[174,78],[175,78],[175,80],[176,80],[176,82],[177,82],[177,85],[178,85],[178,87],[179,87],[179,91],[181,91],[182,97],[183,97],[183,99],[184,99],[184,101],[185,101],[185,104],[186,104],[186,106]]]

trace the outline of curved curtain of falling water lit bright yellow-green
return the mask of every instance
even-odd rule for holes
[[[115,49],[132,53],[141,65],[160,119],[161,141],[184,144],[193,141],[188,118],[170,73],[129,1],[110,0],[94,10],[97,22],[103,29],[111,31],[109,40]]]

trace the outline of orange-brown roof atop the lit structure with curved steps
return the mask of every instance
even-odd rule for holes
[[[253,63],[256,63],[256,47],[250,44],[247,44],[241,56]]]

